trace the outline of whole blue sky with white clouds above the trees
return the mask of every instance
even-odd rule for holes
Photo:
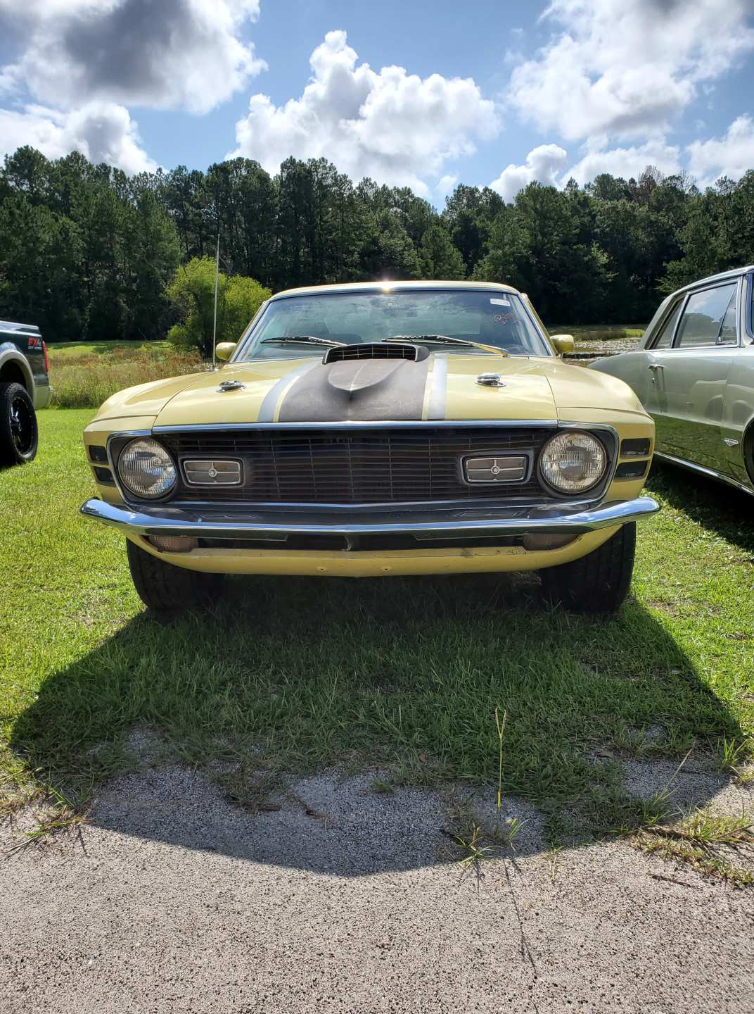
[[[442,205],[754,167],[748,0],[0,0],[0,153],[324,155]],[[368,67],[366,66],[368,65]],[[386,70],[383,68],[401,68]]]

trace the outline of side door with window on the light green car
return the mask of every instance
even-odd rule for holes
[[[720,468],[726,383],[738,350],[740,279],[689,293],[666,344],[648,356],[657,449]]]

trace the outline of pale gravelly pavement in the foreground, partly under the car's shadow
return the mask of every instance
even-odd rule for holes
[[[552,857],[515,800],[521,847],[464,877],[441,861],[447,801],[371,781],[303,779],[253,814],[175,766],[115,780],[83,848],[0,863],[0,1011],[754,1008],[754,892],[624,842]],[[495,816],[494,793],[473,803]]]

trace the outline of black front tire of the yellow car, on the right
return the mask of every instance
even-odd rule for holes
[[[575,612],[614,612],[628,594],[635,549],[630,521],[586,557],[540,571],[545,600]]]

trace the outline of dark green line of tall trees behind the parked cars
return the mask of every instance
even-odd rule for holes
[[[0,317],[51,341],[176,334],[190,266],[214,257],[218,233],[238,278],[233,327],[251,292],[241,278],[258,283],[254,298],[381,278],[508,282],[550,323],[642,322],[667,292],[754,261],[754,171],[702,193],[648,166],[638,179],[533,183],[512,203],[460,184],[438,211],[323,158],[288,158],[274,176],[234,158],[129,177],[23,147],[0,169]]]

